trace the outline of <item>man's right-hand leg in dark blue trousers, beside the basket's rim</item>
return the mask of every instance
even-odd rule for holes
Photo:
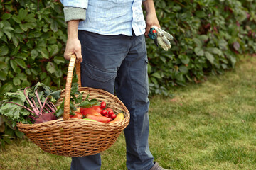
[[[117,72],[117,97],[129,109],[131,119],[124,135],[127,145],[127,168],[148,170],[154,165],[149,151],[149,87],[144,35],[133,36],[132,45]]]

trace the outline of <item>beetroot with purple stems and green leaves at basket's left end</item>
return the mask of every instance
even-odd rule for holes
[[[8,118],[12,126],[16,123],[43,123],[55,120],[55,101],[60,98],[60,90],[53,91],[49,86],[38,82],[16,92],[7,92],[1,101],[0,114]]]

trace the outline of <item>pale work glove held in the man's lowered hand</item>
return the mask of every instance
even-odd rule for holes
[[[166,51],[168,51],[171,48],[171,42],[169,40],[173,40],[174,37],[167,33],[166,31],[162,30],[161,28],[158,28],[156,26],[152,26],[156,30],[157,33],[157,42],[158,44]]]

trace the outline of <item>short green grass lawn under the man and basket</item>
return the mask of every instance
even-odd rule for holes
[[[151,153],[166,169],[256,169],[256,58],[201,84],[154,96],[149,111]],[[124,135],[102,153],[102,170],[126,169]],[[17,140],[0,153],[0,169],[70,169],[70,158]]]

